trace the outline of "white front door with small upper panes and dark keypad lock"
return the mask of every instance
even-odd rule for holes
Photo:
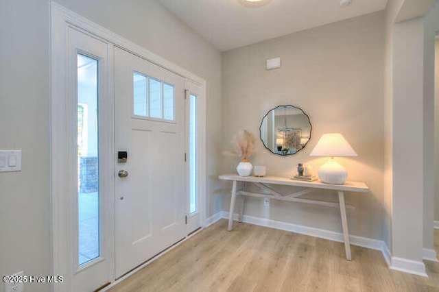
[[[116,278],[185,238],[185,79],[115,48]],[[126,161],[124,161],[126,157]]]

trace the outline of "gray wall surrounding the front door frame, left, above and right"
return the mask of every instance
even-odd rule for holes
[[[155,0],[59,2],[206,80],[208,216],[221,210],[221,54]],[[0,149],[23,150],[23,171],[0,173],[0,275],[44,276],[51,274],[49,2],[0,0],[0,39]]]

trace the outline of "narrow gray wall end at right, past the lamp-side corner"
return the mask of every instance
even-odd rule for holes
[[[392,37],[392,256],[421,260],[425,175],[422,19],[395,24]]]

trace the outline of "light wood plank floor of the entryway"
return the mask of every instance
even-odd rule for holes
[[[226,220],[191,237],[110,291],[439,291],[429,278],[388,269],[381,252]],[[439,230],[436,230],[436,232]],[[439,236],[436,233],[435,236]]]

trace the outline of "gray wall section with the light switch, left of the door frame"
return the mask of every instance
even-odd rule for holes
[[[50,274],[49,6],[0,0],[0,149],[23,171],[0,173],[0,275]],[[3,291],[0,280],[0,291]],[[36,284],[28,291],[49,291]]]

